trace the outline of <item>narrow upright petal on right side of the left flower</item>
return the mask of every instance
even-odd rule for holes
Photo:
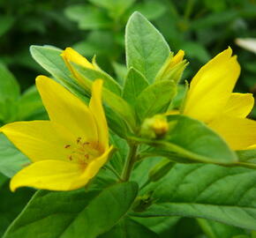
[[[89,108],[94,115],[97,124],[99,143],[102,145],[102,149],[106,150],[109,146],[109,131],[104,109],[102,107],[102,83],[103,81],[100,79],[94,81]]]

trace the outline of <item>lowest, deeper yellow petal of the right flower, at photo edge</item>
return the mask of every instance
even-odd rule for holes
[[[256,122],[247,118],[222,115],[208,124],[224,138],[233,150],[256,145]]]

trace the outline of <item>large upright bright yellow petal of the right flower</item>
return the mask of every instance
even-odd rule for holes
[[[237,82],[240,66],[231,48],[204,65],[192,78],[184,104],[184,115],[210,122],[220,115]]]

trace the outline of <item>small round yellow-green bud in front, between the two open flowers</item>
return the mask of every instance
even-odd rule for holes
[[[165,115],[154,115],[147,118],[141,127],[141,135],[146,138],[162,138],[169,130]]]

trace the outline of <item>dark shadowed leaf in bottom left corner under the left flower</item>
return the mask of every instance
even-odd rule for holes
[[[2,177],[1,177],[2,180]],[[0,185],[1,203],[0,203],[0,236],[4,234],[6,228],[11,224],[19,212],[24,208],[30,197],[33,195],[33,190],[22,189],[15,193],[9,188],[9,180]]]

